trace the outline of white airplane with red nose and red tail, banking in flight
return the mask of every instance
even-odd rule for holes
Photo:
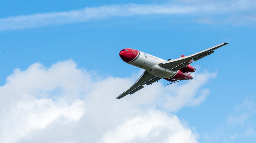
[[[116,99],[121,99],[128,94],[132,95],[144,88],[143,85],[152,85],[152,83],[158,82],[161,78],[170,81],[170,84],[181,80],[193,79],[190,74],[195,72],[196,69],[190,63],[214,53],[213,50],[226,44],[228,43],[221,43],[201,52],[189,56],[181,55],[181,58],[168,59],[167,61],[139,50],[131,48],[122,49],[119,52],[119,56],[124,62],[142,68],[145,71],[129,89],[117,96]]]

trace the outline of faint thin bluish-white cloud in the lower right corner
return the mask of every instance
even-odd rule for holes
[[[206,142],[240,142],[241,139],[251,141],[256,136],[254,129],[256,104],[247,98],[240,105],[234,106],[234,112],[227,115],[226,122],[217,126],[215,131],[201,135]],[[222,122],[222,119],[216,120]]]

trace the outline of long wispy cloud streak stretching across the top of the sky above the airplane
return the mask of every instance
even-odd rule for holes
[[[214,19],[214,22],[233,23],[242,19],[248,23],[255,22],[254,16],[238,16],[232,18],[229,12],[244,12],[255,9],[255,2],[252,0],[235,0],[230,4],[229,1],[202,2],[195,3],[176,3],[176,4],[120,4],[101,7],[87,7],[81,10],[71,10],[64,12],[37,13],[31,15],[13,16],[0,19],[0,31],[15,30],[24,28],[44,27],[48,25],[62,25],[92,20],[105,19],[113,16],[133,16],[141,14],[193,14],[196,16],[213,16],[220,13],[228,13],[225,19]],[[232,15],[232,14],[231,14]],[[233,21],[234,20],[234,21]],[[210,21],[212,23],[213,21]],[[241,22],[241,20],[240,20]],[[199,18],[199,23],[209,23]]]

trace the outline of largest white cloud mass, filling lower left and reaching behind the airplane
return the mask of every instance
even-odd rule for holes
[[[209,94],[200,87],[214,75],[155,83],[117,100],[136,77],[93,77],[72,60],[49,68],[35,63],[14,70],[0,87],[0,142],[197,142],[198,134],[170,111],[199,105]],[[170,97],[175,101],[161,100]]]

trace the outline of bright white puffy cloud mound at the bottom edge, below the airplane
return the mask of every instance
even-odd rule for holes
[[[197,142],[197,135],[184,127],[177,116],[169,117],[161,111],[148,110],[146,113],[126,120],[113,131],[104,134],[102,142],[193,143]]]

